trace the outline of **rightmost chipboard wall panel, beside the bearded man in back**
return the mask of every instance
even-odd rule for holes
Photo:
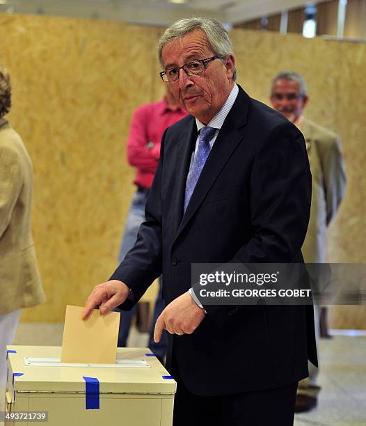
[[[334,262],[365,263],[366,257],[366,44],[340,43],[335,103],[337,132],[342,135],[347,166],[347,193],[340,214],[328,233],[329,256]],[[365,277],[364,277],[365,279]],[[364,283],[365,284],[365,283]],[[364,302],[365,303],[365,302]],[[333,328],[366,329],[366,306],[332,306]]]

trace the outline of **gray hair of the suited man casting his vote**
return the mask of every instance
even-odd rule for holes
[[[185,36],[187,33],[196,29],[202,30],[206,37],[209,46],[216,56],[228,56],[233,54],[232,43],[228,32],[225,30],[220,22],[211,18],[204,17],[191,17],[188,19],[180,19],[174,24],[170,25],[164,34],[161,36],[157,50],[159,56],[159,62],[161,67],[164,68],[163,63],[163,47],[168,43],[177,38]],[[234,70],[233,80],[237,78],[237,70]]]

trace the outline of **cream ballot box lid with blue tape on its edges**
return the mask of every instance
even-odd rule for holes
[[[8,384],[17,391],[83,393],[97,379],[100,393],[174,394],[177,388],[148,348],[118,348],[116,365],[62,364],[61,347],[7,347]]]

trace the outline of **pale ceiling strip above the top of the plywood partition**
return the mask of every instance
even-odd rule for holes
[[[166,25],[191,16],[237,24],[318,1],[306,0],[0,0],[0,12],[94,17]]]

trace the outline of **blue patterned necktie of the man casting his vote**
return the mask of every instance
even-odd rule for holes
[[[200,142],[198,143],[198,149],[196,155],[193,159],[193,164],[191,170],[188,173],[188,177],[186,179],[186,194],[184,196],[184,212],[186,211],[186,207],[188,206],[189,200],[193,194],[193,191],[196,187],[198,178],[200,177],[203,166],[205,166],[205,162],[207,157],[209,156],[209,150],[211,149],[209,146],[209,141],[215,136],[216,130],[214,127],[202,127],[200,129]]]

